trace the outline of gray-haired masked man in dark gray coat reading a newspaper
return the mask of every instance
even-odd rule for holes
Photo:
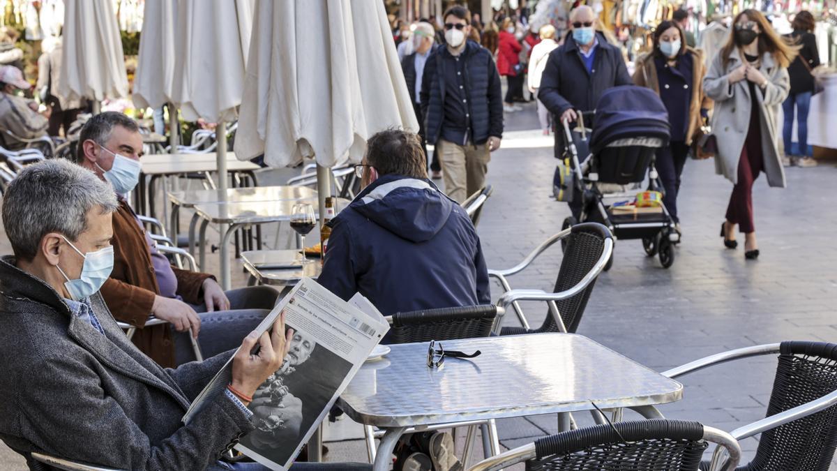
[[[283,315],[272,333],[245,337],[229,388],[184,425],[189,403],[234,352],[163,370],[128,341],[99,293],[113,267],[118,205],[109,184],[61,159],[8,185],[3,225],[14,256],[0,261],[0,438],[32,469],[48,468],[36,452],[107,468],[236,469],[218,456],[254,430],[242,396],[280,368],[294,332]]]

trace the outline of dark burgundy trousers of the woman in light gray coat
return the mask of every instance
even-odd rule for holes
[[[737,224],[741,232],[754,232],[752,222],[752,184],[761,173],[763,164],[762,131],[757,123],[750,126],[747,140],[738,159],[738,183],[732,187],[730,204],[727,206],[727,220]]]

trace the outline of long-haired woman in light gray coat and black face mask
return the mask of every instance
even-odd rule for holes
[[[715,101],[711,122],[718,144],[715,168],[735,185],[721,236],[725,246],[736,248],[735,226],[739,225],[745,235],[744,256],[754,260],[759,251],[752,184],[764,172],[770,186],[785,186],[776,113],[788,96],[788,64],[796,48],[785,43],[755,10],[738,13],[733,24],[727,44],[712,60],[703,88]]]

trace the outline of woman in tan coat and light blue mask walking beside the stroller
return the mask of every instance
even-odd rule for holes
[[[703,56],[701,51],[686,46],[683,28],[664,21],[657,26],[653,37],[654,50],[637,60],[634,82],[660,95],[669,112],[670,146],[657,152],[655,167],[665,189],[663,204],[680,233],[677,214],[680,174],[711,100],[703,93],[702,81],[706,75]]]

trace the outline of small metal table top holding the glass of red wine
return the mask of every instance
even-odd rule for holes
[[[312,263],[300,268],[272,268],[290,265],[299,251],[244,251],[241,260],[246,269],[260,284],[293,287],[302,277],[315,279],[322,272],[320,258],[309,257]]]

